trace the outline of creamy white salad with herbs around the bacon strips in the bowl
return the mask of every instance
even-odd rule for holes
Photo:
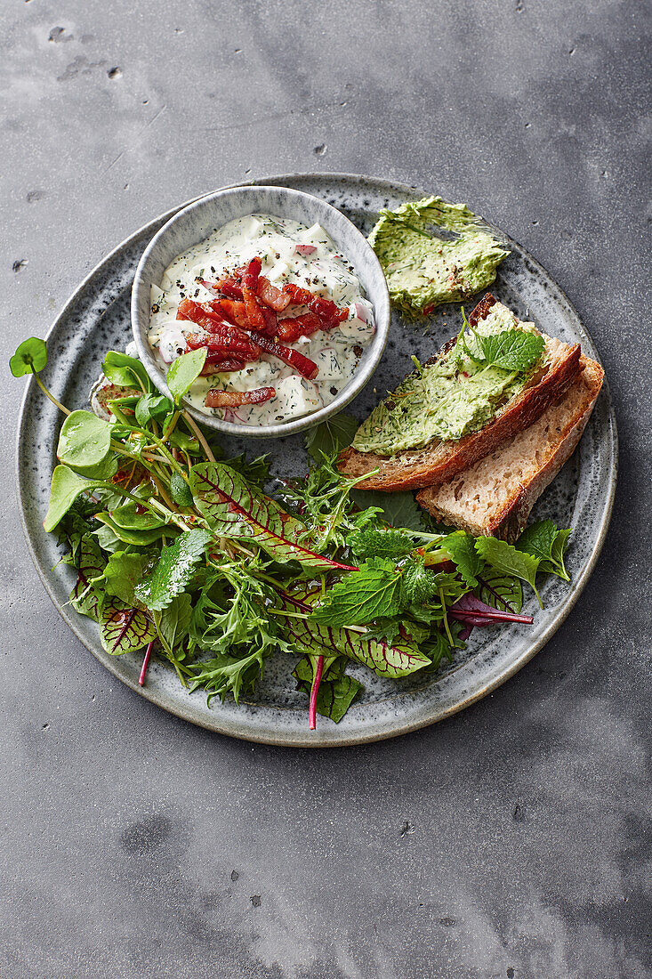
[[[200,377],[188,398],[206,414],[242,424],[273,425],[300,418],[329,404],[347,386],[374,333],[373,307],[365,296],[352,265],[338,253],[319,224],[306,227],[299,221],[250,214],[217,228],[199,245],[177,256],[165,269],[161,288],[152,286],[148,339],[163,365],[187,352],[186,336],[201,329],[193,322],[177,320],[184,299],[209,303],[215,293],[200,280],[214,282],[258,256],[265,276],[277,289],[294,283],[314,296],[348,307],[348,318],[330,330],[317,330],[285,347],[299,350],[318,367],[309,381],[295,367],[263,352],[242,370]],[[305,312],[289,305],[279,317]],[[256,334],[251,334],[256,341]],[[210,389],[246,392],[271,387],[276,395],[262,404],[237,408],[210,408],[205,398]]]

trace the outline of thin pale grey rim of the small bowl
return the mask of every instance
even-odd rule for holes
[[[306,194],[304,191],[295,190],[291,187],[270,187],[268,184],[245,184],[225,187],[221,190],[212,191],[209,194],[205,194],[202,197],[197,198],[196,200],[182,207],[181,210],[177,210],[174,214],[172,214],[172,216],[163,224],[163,227],[160,228],[151,239],[138,261],[133,285],[131,287],[131,332],[140,359],[142,360],[147,373],[149,374],[153,383],[156,385],[157,389],[162,391],[165,396],[170,396],[167,385],[165,384],[163,371],[156,365],[156,362],[150,361],[148,354],[151,352],[151,350],[149,349],[149,345],[147,344],[145,337],[141,333],[139,323],[139,304],[141,303],[141,296],[144,290],[147,291],[147,306],[149,308],[151,282],[145,282],[145,269],[147,268],[147,264],[154,249],[166,236],[166,234],[169,233],[172,225],[174,225],[188,213],[195,210],[202,210],[202,208],[206,207],[210,201],[231,196],[247,196],[253,191],[269,192],[270,190],[281,191],[282,197],[316,201],[323,210],[325,210],[327,213],[329,211],[333,211],[334,214],[337,215],[337,220],[344,222],[345,230],[349,232],[349,235],[352,235],[361,242],[363,248],[368,252],[371,258],[372,266],[376,266],[379,283],[383,293],[382,298],[384,300],[385,312],[384,315],[379,317],[377,311],[379,303],[374,303],[376,333],[371,341],[370,349],[375,348],[375,350],[372,356],[368,359],[367,363],[364,364],[361,370],[356,370],[350,379],[349,385],[343,391],[341,391],[338,396],[336,396],[328,404],[319,408],[317,411],[303,415],[301,418],[294,418],[287,422],[277,422],[274,425],[244,425],[236,422],[227,422],[221,418],[217,418],[215,415],[206,414],[205,412],[200,411],[198,408],[189,404],[185,398],[182,399],[184,409],[188,411],[195,421],[199,422],[200,424],[206,425],[217,432],[222,432],[225,435],[250,439],[273,439],[282,438],[289,435],[296,435],[297,433],[304,432],[308,428],[319,425],[321,422],[326,421],[327,418],[330,418],[332,415],[338,414],[340,411],[342,411],[354,397],[359,395],[362,389],[371,380],[371,377],[378,367],[381,357],[385,351],[391,323],[390,293],[381,263],[365,236],[358,228],[355,227],[344,211],[333,207],[333,205],[329,204],[327,201],[324,201],[323,198],[316,197],[314,194]],[[254,212],[255,211],[252,211],[252,213]],[[330,236],[331,231],[326,226],[327,221],[320,221],[320,223],[324,227],[326,233]]]

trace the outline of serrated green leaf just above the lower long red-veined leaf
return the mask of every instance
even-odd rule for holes
[[[311,621],[331,626],[366,625],[395,616],[401,608],[401,575],[394,561],[370,558],[344,581],[332,585],[312,610]]]

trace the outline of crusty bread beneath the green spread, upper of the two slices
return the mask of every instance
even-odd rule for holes
[[[497,301],[490,293],[481,300],[469,316],[475,326],[489,313]],[[338,460],[338,469],[345,476],[357,477],[379,469],[375,476],[363,480],[361,489],[382,489],[393,492],[396,489],[421,489],[452,479],[457,473],[468,469],[505,439],[509,439],[528,428],[561,396],[578,376],[580,370],[580,347],[570,347],[560,340],[546,337],[544,366],[535,372],[527,386],[518,395],[502,405],[479,432],[472,432],[453,441],[434,440],[423,448],[408,449],[394,456],[377,455],[374,452],[357,452],[352,446],[346,448]],[[455,338],[448,341],[438,356],[442,356]],[[433,358],[428,363],[433,363]]]

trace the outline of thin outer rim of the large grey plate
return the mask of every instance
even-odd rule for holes
[[[265,177],[255,178],[247,181],[240,181],[238,183],[228,184],[225,185],[224,187],[217,188],[217,190],[228,190],[232,187],[246,187],[246,186],[256,186],[256,185],[264,186],[266,184],[273,185],[275,182],[281,182],[281,181],[285,182],[285,181],[293,181],[293,180],[317,180],[317,181],[343,180],[343,181],[349,181],[351,183],[356,183],[358,185],[373,184],[376,187],[387,188],[388,190],[391,191],[396,191],[396,189],[398,189],[406,193],[410,193],[410,192],[414,192],[414,193],[423,192],[424,194],[428,193],[427,191],[423,191],[422,188],[420,188],[416,184],[406,183],[398,180],[387,180],[382,177],[368,176],[360,173],[347,173],[341,171],[317,171],[314,173],[295,172],[295,173],[273,174],[271,176],[265,176]],[[135,238],[137,238],[142,234],[145,234],[146,232],[148,232],[150,228],[154,228],[157,225],[161,225],[162,222],[166,222],[167,220],[169,220],[171,216],[177,213],[177,211],[182,210],[188,207],[189,205],[195,203],[196,201],[201,200],[203,197],[207,197],[215,192],[216,191],[214,190],[208,191],[204,194],[200,194],[195,197],[192,197],[191,199],[183,202],[182,204],[174,208],[165,210],[160,215],[151,218],[149,221],[145,222],[145,224],[142,224],[136,230],[131,232],[131,234],[123,238],[121,242],[119,242],[109,253],[107,253],[106,256],[102,257],[100,261],[98,261],[93,266],[93,268],[84,276],[81,282],[70,293],[68,300],[61,307],[61,309],[59,310],[59,312],[57,313],[50,327],[47,330],[47,333],[45,335],[46,341],[49,340],[51,334],[57,328],[61,320],[68,314],[70,307],[73,305],[73,303],[77,301],[79,296],[83,293],[84,289],[88,286],[88,284],[96,276],[96,274],[102,271],[102,269],[105,266],[108,266],[112,262],[114,257],[118,253],[120,253],[125,247],[128,247]],[[486,221],[485,223],[487,223],[489,227],[494,228],[502,236],[508,238],[509,241],[512,241],[514,242],[514,244],[518,245],[523,255],[527,256],[527,258],[530,261],[532,261],[532,263],[535,265],[536,269],[539,272],[543,273],[546,279],[548,279],[553,284],[559,297],[563,300],[564,303],[567,303],[572,314],[576,317],[578,323],[582,328],[582,333],[586,336],[588,340],[590,340],[591,344],[594,347],[595,345],[593,344],[592,338],[586,331],[582,323],[582,319],[579,316],[574,304],[571,303],[564,290],[552,278],[550,273],[547,272],[546,269],[540,264],[540,262],[538,262],[537,259],[534,256],[532,256],[530,252],[527,249],[525,249],[519,242],[516,242],[515,239],[506,235],[506,233],[502,231],[502,229],[495,227],[494,225],[491,224],[491,222]],[[154,233],[155,232],[153,232],[153,234]],[[456,703],[453,706],[442,709],[442,711],[438,714],[437,717],[434,718],[422,717],[414,721],[405,721],[403,723],[398,723],[396,727],[393,727],[391,730],[384,730],[384,731],[373,730],[370,731],[368,734],[365,734],[359,731],[351,731],[350,733],[347,733],[343,730],[342,732],[338,732],[336,728],[332,732],[334,736],[333,737],[327,736],[326,738],[323,737],[323,733],[324,733],[323,726],[322,726],[321,735],[317,733],[316,737],[314,736],[314,734],[312,736],[307,736],[307,735],[304,736],[303,734],[294,734],[291,732],[284,732],[284,731],[279,731],[279,732],[272,731],[271,733],[267,733],[265,731],[250,732],[250,731],[231,730],[229,729],[228,724],[219,723],[219,720],[213,722],[212,717],[208,717],[206,720],[204,720],[201,717],[196,718],[194,716],[189,716],[188,711],[184,710],[183,705],[180,704],[177,706],[173,701],[168,702],[167,695],[161,696],[159,695],[159,693],[157,693],[156,690],[152,688],[148,688],[147,686],[140,686],[138,683],[138,679],[136,677],[122,676],[118,670],[118,662],[117,661],[114,662],[114,660],[111,659],[109,661],[106,661],[101,655],[100,651],[94,649],[93,646],[86,641],[82,633],[76,628],[75,625],[76,617],[75,619],[73,619],[71,616],[67,614],[65,610],[66,607],[65,606],[62,607],[58,604],[57,598],[47,578],[45,570],[44,568],[41,567],[41,563],[38,560],[36,548],[31,538],[31,531],[27,524],[27,520],[25,516],[25,505],[23,501],[23,486],[22,486],[22,479],[21,479],[21,455],[22,455],[22,445],[23,445],[22,435],[23,435],[23,427],[26,424],[27,402],[32,396],[32,394],[34,393],[35,388],[36,388],[36,382],[34,380],[34,377],[30,376],[24,387],[23,398],[21,400],[21,407],[18,415],[16,451],[15,451],[16,493],[19,502],[19,515],[21,520],[21,526],[23,527],[23,534],[25,536],[25,540],[27,543],[27,549],[29,551],[29,555],[31,557],[32,563],[36,569],[36,573],[38,574],[38,577],[40,578],[41,583],[43,584],[54,607],[57,609],[59,615],[62,617],[66,625],[72,631],[72,633],[77,637],[77,639],[81,642],[81,644],[94,656],[94,658],[102,665],[102,667],[108,670],[112,676],[116,676],[116,679],[119,679],[120,682],[123,683],[125,686],[127,686],[129,689],[135,691],[136,693],[138,693],[140,696],[144,697],[146,700],[150,701],[151,703],[156,704],[157,707],[162,708],[168,714],[180,718],[186,723],[193,723],[196,726],[203,727],[205,730],[210,730],[213,733],[226,735],[228,737],[235,737],[238,740],[250,741],[256,744],[268,744],[268,745],[273,745],[275,747],[284,747],[284,748],[298,748],[298,747],[299,748],[343,748],[349,746],[352,747],[354,745],[370,744],[370,743],[375,743],[377,741],[389,740],[390,738],[399,737],[402,734],[408,734],[412,731],[419,730],[422,727],[429,727],[432,724],[439,723],[444,719],[452,717],[454,714],[457,714],[459,711],[462,711],[467,707],[470,707],[472,704],[477,703],[479,700],[482,700],[484,697],[486,697],[489,693],[495,690],[502,683],[506,682],[506,680],[510,679],[512,676],[515,676],[515,674],[517,674],[519,670],[521,670],[527,663],[530,662],[530,660],[532,660],[536,656],[536,653],[538,653],[542,649],[542,647],[550,640],[550,638],[554,635],[557,629],[559,629],[566,621],[571,611],[575,608],[575,605],[578,599],[580,598],[588,579],[593,573],[597,560],[604,546],[604,542],[611,523],[611,517],[612,517],[613,507],[614,507],[614,499],[616,495],[616,486],[618,483],[619,437],[618,437],[618,427],[617,427],[616,415],[614,411],[613,399],[611,397],[608,379],[605,376],[605,381],[602,390],[608,399],[608,421],[609,421],[609,427],[611,431],[611,449],[613,453],[613,467],[611,473],[609,474],[607,498],[605,500],[605,507],[602,510],[602,517],[600,519],[600,524],[597,530],[597,536],[593,544],[593,547],[591,549],[590,557],[586,562],[582,574],[580,578],[577,580],[577,582],[574,583],[573,590],[571,591],[571,594],[568,596],[566,602],[564,603],[563,608],[555,616],[554,620],[548,625],[547,629],[544,629],[544,631],[538,637],[536,642],[534,642],[530,647],[528,647],[527,651],[523,655],[521,655],[513,663],[510,663],[508,666],[506,666],[505,669],[502,670],[497,676],[494,676],[491,680],[489,680],[489,682],[482,685],[479,689],[477,689],[473,693],[468,693],[463,698],[463,700],[461,700],[459,703]],[[218,714],[215,715],[215,718],[219,719],[219,715]]]

